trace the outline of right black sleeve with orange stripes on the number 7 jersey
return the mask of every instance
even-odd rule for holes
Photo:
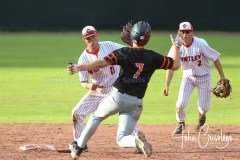
[[[171,57],[156,54],[155,65],[156,69],[171,69],[173,66],[173,59]]]

